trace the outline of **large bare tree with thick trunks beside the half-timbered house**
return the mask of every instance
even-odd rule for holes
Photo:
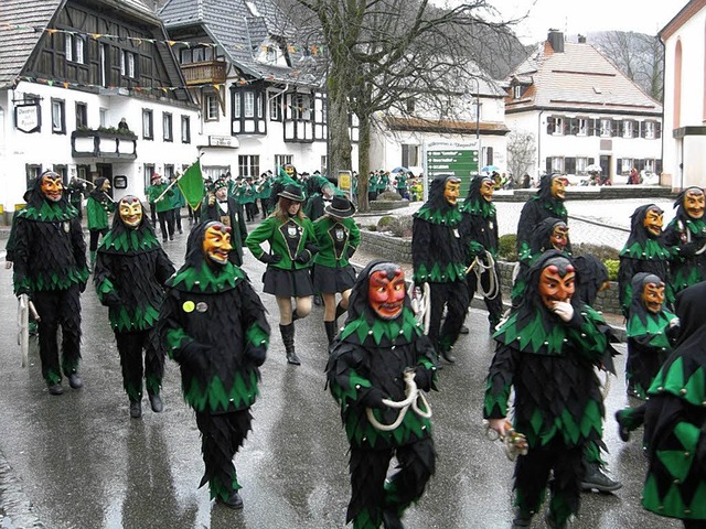
[[[434,7],[429,0],[289,2],[308,9],[315,18],[325,45],[333,174],[352,168],[350,114],[359,119],[359,205],[363,210],[368,207],[375,112],[394,108],[408,114],[409,97],[422,95],[425,119],[448,119],[453,108],[450,96],[469,91],[462,75],[479,75],[473,61],[482,53],[488,55],[488,35],[516,42],[507,22],[494,22],[498,13],[485,0],[459,2],[448,9]]]

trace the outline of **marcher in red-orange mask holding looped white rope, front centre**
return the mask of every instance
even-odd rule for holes
[[[375,260],[361,271],[330,353],[328,387],[351,445],[346,521],[355,529],[402,528],[405,510],[419,500],[436,469],[431,410],[421,398],[399,420],[399,409],[386,400],[405,400],[414,389],[436,390],[437,354],[411,311],[399,264]],[[397,420],[396,428],[381,429]],[[386,478],[393,456],[398,465]]]

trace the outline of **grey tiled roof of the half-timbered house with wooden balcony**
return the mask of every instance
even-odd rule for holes
[[[170,0],[159,11],[159,17],[170,33],[203,28],[232,64],[255,78],[304,85],[322,82],[318,76],[299,71],[297,64],[303,54],[298,48],[288,51],[292,68],[256,60],[259,46],[267,37],[288,36],[281,30],[286,17],[271,0]]]

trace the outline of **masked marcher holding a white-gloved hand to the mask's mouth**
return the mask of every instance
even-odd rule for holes
[[[515,463],[513,528],[531,526],[547,485],[547,523],[568,527],[579,509],[586,446],[602,445],[603,399],[593,368],[605,358],[610,330],[575,295],[575,279],[566,257],[545,252],[530,269],[520,306],[493,335],[498,347],[483,417],[505,435],[514,388],[513,427],[528,444],[527,454]]]

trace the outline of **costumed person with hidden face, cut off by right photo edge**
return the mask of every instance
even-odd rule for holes
[[[652,382],[644,423],[649,468],[642,507],[706,527],[706,283],[676,296],[674,352]]]

